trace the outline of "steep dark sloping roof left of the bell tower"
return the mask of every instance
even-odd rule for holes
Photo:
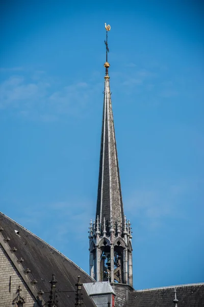
[[[0,227],[4,228],[1,231],[3,237],[10,238],[7,242],[9,247],[17,249],[15,251],[17,259],[23,258],[22,267],[31,270],[28,276],[30,280],[37,281],[35,284],[37,291],[50,291],[49,281],[52,279],[52,274],[56,276],[58,281],[56,288],[59,291],[75,291],[78,275],[81,276],[82,282],[93,281],[87,273],[63,254],[1,212]],[[19,231],[19,235],[15,233],[15,230]],[[43,294],[42,297],[45,302],[48,300],[48,294]],[[86,307],[95,306],[85,290],[83,290],[83,297]],[[75,303],[75,293],[58,293],[58,301],[61,307],[72,307]]]

